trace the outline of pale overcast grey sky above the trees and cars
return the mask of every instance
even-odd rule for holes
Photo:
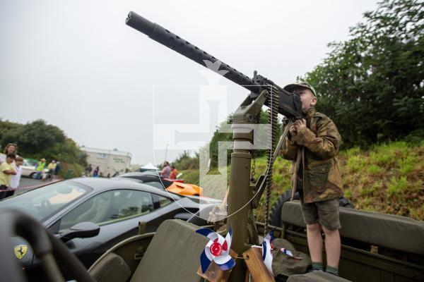
[[[42,118],[79,145],[118,148],[131,152],[133,163],[158,163],[164,152],[153,149],[153,124],[196,123],[196,85],[208,80],[201,66],[126,26],[129,11],[247,75],[257,70],[283,86],[317,66],[326,44],[348,39],[348,27],[376,3],[1,1],[0,117]],[[228,114],[247,90],[225,79],[220,85],[230,85]],[[162,133],[160,141],[172,147],[173,135]],[[178,152],[170,149],[168,159]]]

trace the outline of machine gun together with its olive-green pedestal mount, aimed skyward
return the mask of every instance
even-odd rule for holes
[[[238,254],[242,254],[242,252],[248,249],[246,243],[252,243],[250,242],[252,241],[252,237],[257,238],[256,227],[248,222],[249,209],[259,206],[259,199],[264,190],[266,190],[266,219],[264,223],[264,232],[266,233],[269,218],[273,161],[281,149],[292,122],[295,119],[302,118],[302,103],[300,102],[299,95],[284,90],[268,78],[258,75],[257,71],[254,71],[253,78],[249,78],[227,63],[223,63],[215,56],[208,54],[206,51],[170,32],[170,30],[165,29],[157,23],[152,23],[150,20],[134,12],[129,13],[126,18],[126,25],[143,32],[156,42],[177,51],[177,53],[199,63],[201,66],[208,68],[208,66],[218,63],[219,68],[210,69],[250,91],[249,96],[240,104],[237,111],[235,111],[232,120],[234,151],[231,154],[230,191],[228,195],[229,216],[227,224],[228,226],[232,226],[232,248]],[[250,168],[252,152],[246,149],[245,144],[246,142],[250,142],[251,144],[254,142],[252,127],[249,125],[259,122],[261,107],[264,105],[269,106],[269,124],[271,125],[269,145],[271,145],[271,149],[269,149],[268,153],[268,167],[266,172],[256,182],[251,183]],[[285,125],[285,130],[283,130],[278,145],[276,145],[278,114],[285,116],[288,122]],[[249,228],[248,224],[250,224]],[[250,229],[250,233],[248,229]],[[255,235],[252,236],[252,233]],[[237,263],[235,269],[232,270],[230,280],[242,281],[245,277],[245,268],[244,263]]]

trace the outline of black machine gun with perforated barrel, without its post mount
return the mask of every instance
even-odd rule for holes
[[[206,51],[203,51],[199,47],[194,46],[192,43],[188,42],[185,39],[182,39],[178,35],[170,32],[164,27],[158,25],[157,23],[152,23],[150,20],[143,18],[137,13],[129,12],[128,17],[125,21],[126,25],[133,27],[139,32],[143,32],[145,35],[151,39],[159,42],[160,44],[165,45],[166,47],[177,51],[179,54],[186,56],[188,59],[199,63],[201,66],[208,68],[206,61],[215,63],[220,61],[216,57],[208,54]],[[232,68],[227,63],[220,61],[220,68],[213,69],[209,68],[212,71],[220,75],[224,75],[225,78],[228,78],[232,82],[237,83],[238,85],[245,87],[251,92],[250,97],[256,99],[260,92],[264,89],[271,91],[278,91],[280,93],[279,109],[278,112],[283,114],[288,118],[300,118],[302,116],[301,111],[301,102],[298,95],[294,95],[290,92],[283,90],[281,87],[273,83],[271,80],[268,80],[261,75],[257,75],[255,72],[254,78],[249,78],[247,75],[237,71],[235,68]],[[221,73],[222,71],[222,73]],[[224,72],[227,71],[227,72]],[[268,102],[266,102],[268,104]]]

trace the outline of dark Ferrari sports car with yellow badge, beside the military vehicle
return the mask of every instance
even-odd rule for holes
[[[146,221],[146,232],[154,232],[165,219],[201,224],[199,220],[202,220],[193,214],[212,209],[216,204],[220,201],[183,197],[125,178],[76,178],[2,200],[0,209],[19,209],[55,234],[63,234],[81,222],[97,224],[100,226],[98,235],[66,242],[69,250],[88,267],[110,247],[136,235],[139,221]],[[15,255],[27,276],[31,281],[42,281],[45,274],[28,243],[22,238],[13,240]]]

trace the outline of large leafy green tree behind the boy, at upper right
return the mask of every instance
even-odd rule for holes
[[[314,85],[317,109],[336,122],[347,147],[398,140],[424,125],[424,3],[378,5],[299,78]]]

